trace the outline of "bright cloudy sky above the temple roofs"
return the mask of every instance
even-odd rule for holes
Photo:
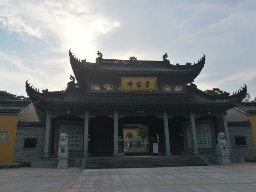
[[[65,90],[68,51],[105,59],[206,63],[194,84],[256,96],[256,0],[1,0],[0,90]]]

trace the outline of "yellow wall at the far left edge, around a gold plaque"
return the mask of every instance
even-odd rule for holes
[[[0,131],[9,131],[8,141],[0,142],[0,163],[12,163],[18,117],[18,114],[0,115]]]

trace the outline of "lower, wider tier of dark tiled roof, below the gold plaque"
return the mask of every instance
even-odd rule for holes
[[[68,87],[62,95],[39,93],[29,87],[26,92],[32,101],[49,104],[80,104],[80,105],[188,105],[188,106],[222,106],[241,102],[246,95],[246,87],[239,93],[211,95],[197,89],[194,85],[187,86],[187,94],[183,93],[137,93],[137,92],[88,92],[76,86]]]

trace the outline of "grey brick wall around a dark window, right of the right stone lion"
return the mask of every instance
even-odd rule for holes
[[[253,133],[250,122],[228,122],[228,132],[233,154],[243,155],[245,159],[256,158]],[[247,145],[235,145],[234,137],[245,137]]]

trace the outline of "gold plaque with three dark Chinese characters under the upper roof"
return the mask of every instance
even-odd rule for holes
[[[157,91],[157,77],[121,77],[121,91]]]

